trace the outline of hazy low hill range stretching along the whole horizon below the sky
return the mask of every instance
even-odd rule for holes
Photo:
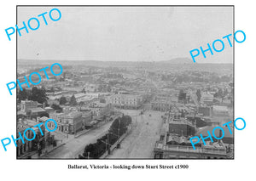
[[[233,64],[199,64],[194,63],[192,59],[177,58],[166,61],[98,61],[98,60],[33,60],[33,59],[19,59],[18,71],[21,67],[27,68],[41,68],[52,65],[53,63],[60,63],[63,67],[119,67],[131,69],[144,69],[148,71],[212,71],[219,74],[233,72]]]

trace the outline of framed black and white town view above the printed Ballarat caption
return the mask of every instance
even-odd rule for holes
[[[16,159],[234,159],[234,6],[16,11]]]

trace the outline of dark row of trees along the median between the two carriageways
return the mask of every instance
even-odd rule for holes
[[[79,155],[80,159],[99,158],[105,151],[109,150],[119,137],[121,137],[131,124],[131,116],[122,116],[113,121],[108,133],[97,139],[96,143],[88,144],[84,148],[83,156]]]

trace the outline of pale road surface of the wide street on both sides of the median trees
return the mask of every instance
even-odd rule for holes
[[[121,148],[113,150],[107,159],[111,158],[154,158],[154,144],[160,139],[160,130],[163,120],[160,116],[164,113],[154,110],[146,110],[143,115],[139,115],[141,110],[120,110],[125,115],[132,118],[131,133],[125,137],[121,143]],[[151,116],[149,116],[151,115]],[[113,122],[113,121],[112,121]],[[38,157],[37,153],[32,154],[32,158],[50,159],[73,159],[83,154],[87,144],[95,143],[105,133],[108,133],[112,122],[102,122],[102,125],[93,129],[84,130],[76,136],[68,135],[62,141],[57,142],[57,146],[50,145],[43,150],[43,154]],[[47,150],[47,152],[45,152]]]

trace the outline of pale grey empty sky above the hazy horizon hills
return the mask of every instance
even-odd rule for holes
[[[61,11],[60,20],[49,19],[52,8]],[[48,25],[38,17],[44,12]],[[18,7],[17,17],[19,27],[32,17],[40,22],[36,31],[20,31],[18,59],[192,61],[190,50],[221,39],[222,52],[196,62],[233,62],[233,48],[222,38],[233,33],[233,7]]]

